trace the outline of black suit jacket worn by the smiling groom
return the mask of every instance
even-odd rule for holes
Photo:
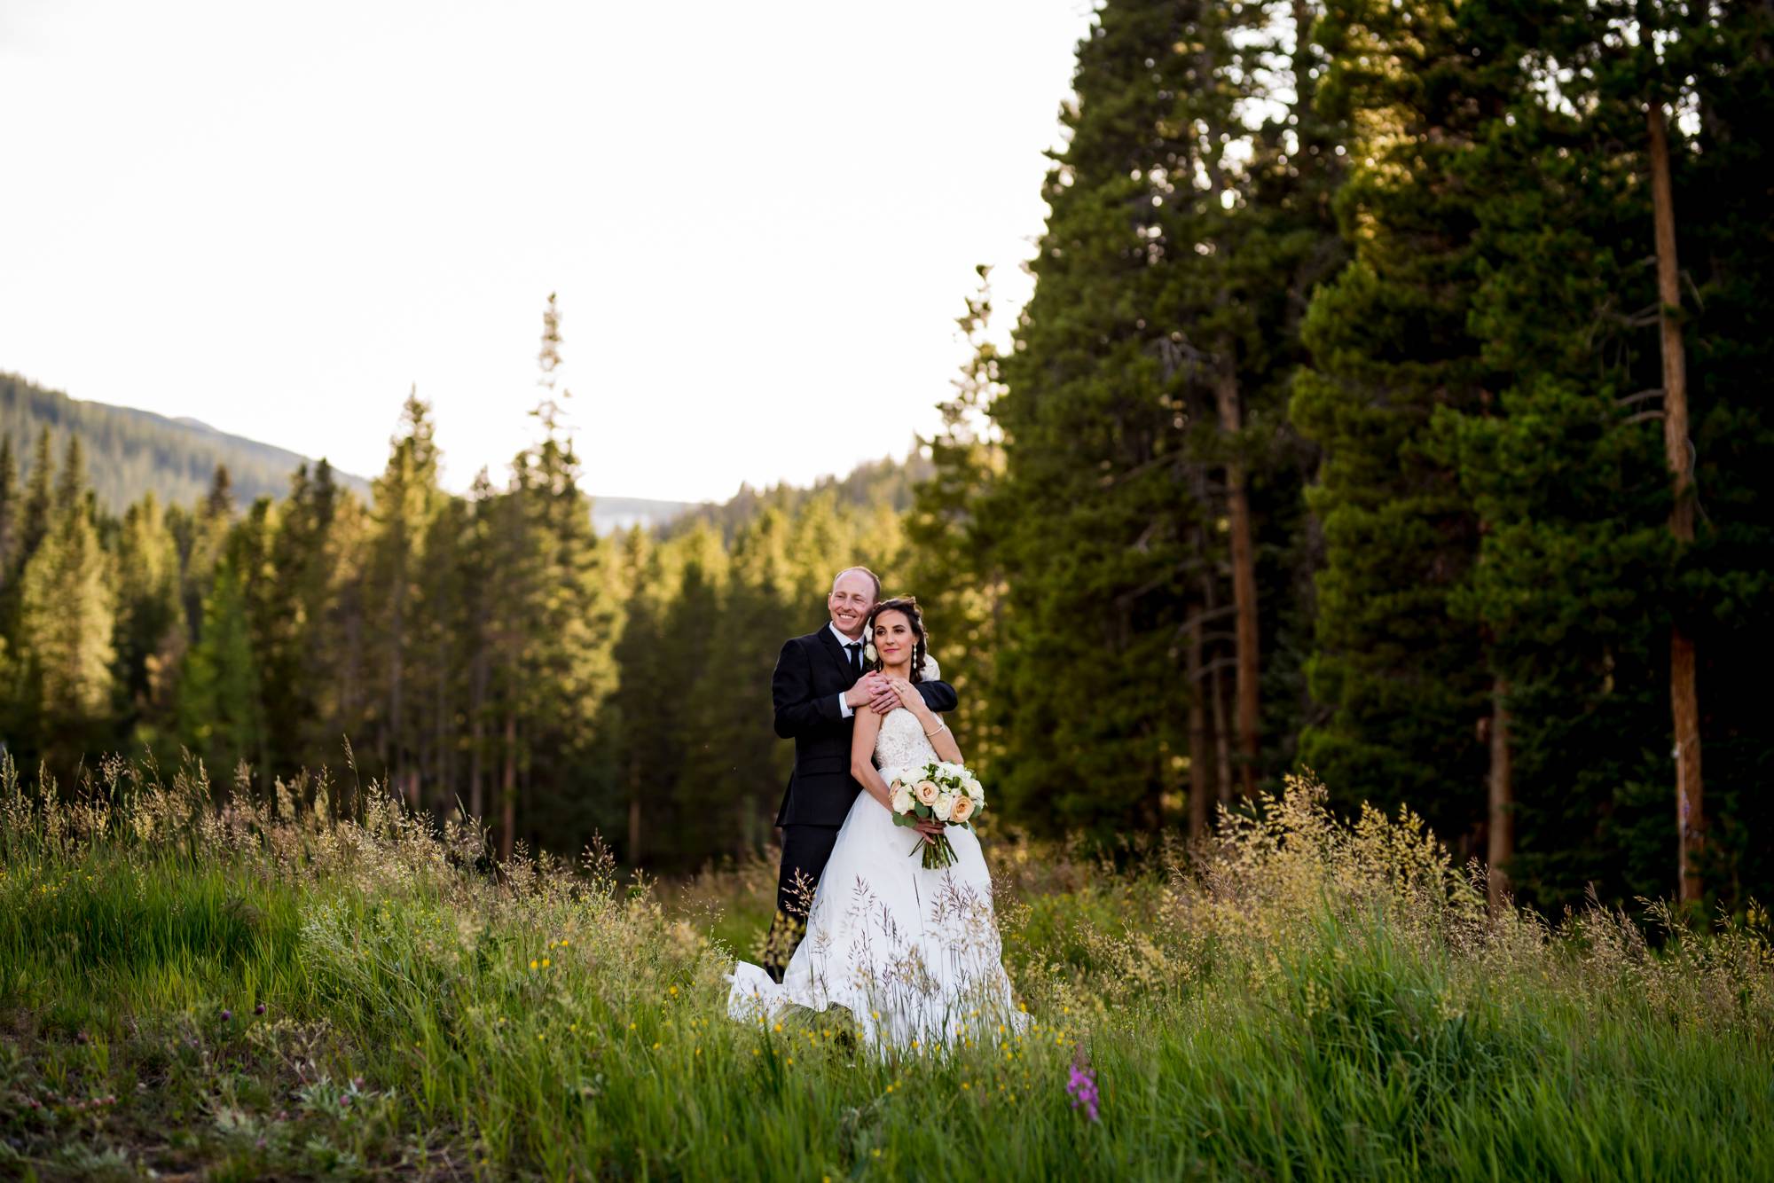
[[[855,717],[843,718],[837,709],[837,695],[855,681],[850,658],[830,628],[782,646],[770,678],[770,701],[775,704],[777,734],[795,741],[795,772],[777,811],[779,827],[844,825],[844,814],[862,791],[850,775]],[[960,702],[954,686],[946,681],[924,681],[917,688],[933,711],[953,711]]]

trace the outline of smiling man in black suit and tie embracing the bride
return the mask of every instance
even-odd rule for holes
[[[775,729],[795,741],[795,772],[777,811],[782,827],[782,869],[777,874],[777,915],[770,926],[765,968],[777,981],[793,952],[789,919],[804,921],[812,889],[832,857],[837,828],[862,786],[850,775],[850,733],[857,711],[887,715],[899,699],[885,674],[862,672],[862,626],[882,596],[882,582],[867,568],[846,568],[832,580],[825,599],[830,623],[782,646],[770,699]],[[921,681],[930,709],[953,711],[954,686]]]

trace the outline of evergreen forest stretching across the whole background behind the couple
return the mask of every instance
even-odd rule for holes
[[[1742,910],[1774,887],[1770,34],[1111,0],[1034,296],[1004,326],[990,273],[956,293],[942,429],[658,530],[593,527],[553,298],[534,443],[467,495],[419,394],[367,497],[318,463],[119,509],[80,431],[7,435],[0,738],[64,784],[184,752],[687,873],[772,841],[770,669],[860,562],[924,603],[997,832],[1199,837],[1304,766],[1540,908]]]

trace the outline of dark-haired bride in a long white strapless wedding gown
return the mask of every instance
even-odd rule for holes
[[[864,628],[871,662],[892,679],[899,706],[859,711],[850,747],[862,793],[837,832],[832,860],[807,910],[807,935],[782,983],[740,961],[727,1011],[775,1016],[791,1006],[850,1011],[875,1045],[951,1045],[992,1038],[1001,1023],[1020,1030],[1027,1015],[1011,1002],[992,913],[992,874],[979,839],[949,827],[954,862],[926,871],[924,835],[894,825],[882,770],[962,763],[954,733],[915,690],[935,662],[926,658],[924,619],[910,596],[883,599]]]

